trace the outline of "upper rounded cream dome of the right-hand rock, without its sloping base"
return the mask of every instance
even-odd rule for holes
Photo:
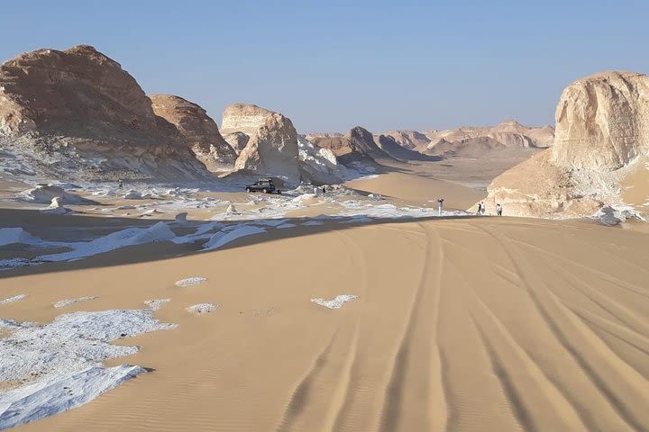
[[[553,162],[612,170],[649,153],[649,76],[605,72],[563,90],[556,113]]]

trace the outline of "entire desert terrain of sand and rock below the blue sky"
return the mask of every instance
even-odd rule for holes
[[[0,429],[649,430],[643,74],[556,130],[314,142],[87,45],[0,84]]]

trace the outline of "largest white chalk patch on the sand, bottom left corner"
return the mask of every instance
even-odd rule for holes
[[[113,345],[174,324],[160,323],[151,310],[74,312],[49,324],[0,319],[0,429],[78,407],[136,374],[140,366],[105,368],[108,358],[129,356],[139,347]]]

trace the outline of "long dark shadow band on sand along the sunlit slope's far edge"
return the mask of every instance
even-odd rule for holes
[[[469,219],[471,216],[445,216],[448,219]],[[294,224],[295,227],[287,229],[276,229],[271,226],[264,226],[265,222],[271,220],[188,220],[186,223],[178,223],[175,220],[134,220],[130,218],[105,218],[84,215],[52,215],[43,214],[35,210],[8,210],[0,209],[0,228],[20,227],[29,232],[32,236],[46,241],[69,241],[81,242],[103,237],[107,234],[128,228],[148,228],[158,222],[166,222],[169,228],[178,236],[196,232],[207,224],[222,223],[225,227],[232,225],[255,225],[264,226],[266,232],[261,234],[248,235],[236,238],[233,241],[213,250],[203,250],[205,239],[183,244],[176,244],[172,241],[150,242],[135,246],[124,246],[113,250],[84,257],[75,261],[44,262],[35,266],[18,266],[0,271],[0,278],[9,278],[20,275],[46,274],[51,272],[78,270],[85,268],[123,266],[127,264],[156,261],[172,257],[186,257],[201,253],[214,254],[218,259],[219,251],[235,247],[245,247],[260,244],[268,241],[275,241],[283,238],[296,238],[311,236],[323,232],[351,229],[355,227],[377,226],[387,223],[407,223],[420,220],[434,220],[438,217],[399,217],[399,218],[366,218],[362,216],[319,216],[314,218],[281,218],[286,223]],[[307,222],[320,223],[318,225],[306,225]],[[221,229],[224,230],[224,229]],[[11,258],[32,259],[51,253],[59,253],[61,250],[52,248],[33,247],[22,243],[14,243],[0,246],[0,260]]]

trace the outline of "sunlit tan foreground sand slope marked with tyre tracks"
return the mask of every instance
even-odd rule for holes
[[[0,279],[18,320],[141,308],[151,367],[15,430],[623,431],[649,428],[649,235],[586,222],[333,229],[129,266]],[[256,266],[246,266],[256,263]],[[178,288],[187,276],[205,284]],[[340,310],[309,302],[350,293]],[[198,302],[220,308],[194,316]]]

